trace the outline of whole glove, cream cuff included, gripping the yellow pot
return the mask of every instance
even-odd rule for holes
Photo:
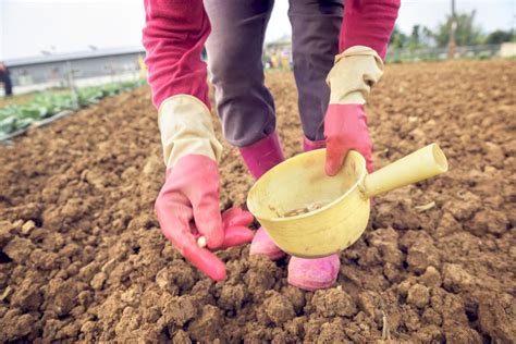
[[[324,118],[327,174],[339,172],[349,149],[360,152],[366,158],[367,170],[372,172],[371,139],[364,105],[382,74],[383,62],[369,47],[354,46],[335,57],[327,78],[331,90]]]

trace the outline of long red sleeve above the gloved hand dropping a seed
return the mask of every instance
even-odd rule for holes
[[[202,0],[144,0],[145,63],[157,108],[186,94],[209,108],[206,63],[200,54],[210,33]]]

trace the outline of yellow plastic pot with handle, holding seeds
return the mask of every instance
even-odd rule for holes
[[[275,165],[251,187],[249,211],[274,243],[292,256],[324,257],[355,243],[369,220],[369,198],[447,171],[438,145],[421,148],[374,173],[349,151],[335,176],[324,173],[325,149]],[[318,208],[291,216],[297,209]]]

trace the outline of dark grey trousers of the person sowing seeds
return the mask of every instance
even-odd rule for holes
[[[274,100],[263,84],[262,47],[273,0],[205,0],[211,23],[208,67],[228,142],[245,147],[275,130]],[[339,53],[342,0],[290,0],[294,76],[303,131],[323,139],[330,99],[325,77]]]

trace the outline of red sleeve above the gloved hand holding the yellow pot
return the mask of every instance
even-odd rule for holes
[[[401,0],[347,0],[340,51],[353,46],[374,49],[384,59]]]

